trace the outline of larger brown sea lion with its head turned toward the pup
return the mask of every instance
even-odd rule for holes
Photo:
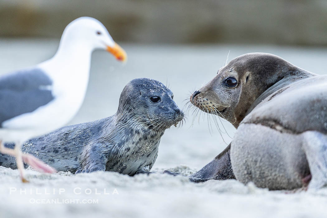
[[[191,103],[237,128],[193,181],[236,177],[271,190],[326,185],[326,75],[271,54],[245,54],[221,68]]]

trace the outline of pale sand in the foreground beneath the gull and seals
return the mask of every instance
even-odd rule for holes
[[[178,170],[194,172],[185,166],[178,167]],[[93,217],[97,214],[106,217],[326,215],[327,189],[315,193],[269,192],[253,184],[244,186],[236,180],[195,184],[182,176],[151,174],[130,177],[112,172],[75,176],[62,172],[44,175],[28,171],[30,183],[22,184],[17,171],[3,167],[0,167],[0,175],[3,199],[1,217]],[[56,203],[47,203],[52,199]],[[80,203],[83,200],[96,202]]]

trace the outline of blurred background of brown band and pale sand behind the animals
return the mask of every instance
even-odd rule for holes
[[[326,0],[0,0],[0,74],[51,58],[65,26],[80,16],[101,21],[129,60],[122,65],[105,51],[93,53],[86,98],[70,124],[114,114],[124,86],[137,77],[169,85],[184,108],[228,54],[231,60],[273,53],[326,74]],[[210,122],[198,113],[192,126],[193,115],[190,110],[183,127],[165,132],[155,168],[199,169],[232,140],[235,129],[228,122],[218,121],[229,133],[221,136],[214,117]]]

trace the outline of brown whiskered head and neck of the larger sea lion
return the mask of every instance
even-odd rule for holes
[[[216,114],[237,128],[251,105],[267,89],[277,83],[288,85],[308,75],[312,74],[276,55],[244,54],[220,68],[208,84],[191,95],[190,101],[204,112]]]

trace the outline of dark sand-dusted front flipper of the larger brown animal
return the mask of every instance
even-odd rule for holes
[[[190,176],[192,182],[205,182],[209,179],[235,179],[231,164],[231,143],[215,159]]]

